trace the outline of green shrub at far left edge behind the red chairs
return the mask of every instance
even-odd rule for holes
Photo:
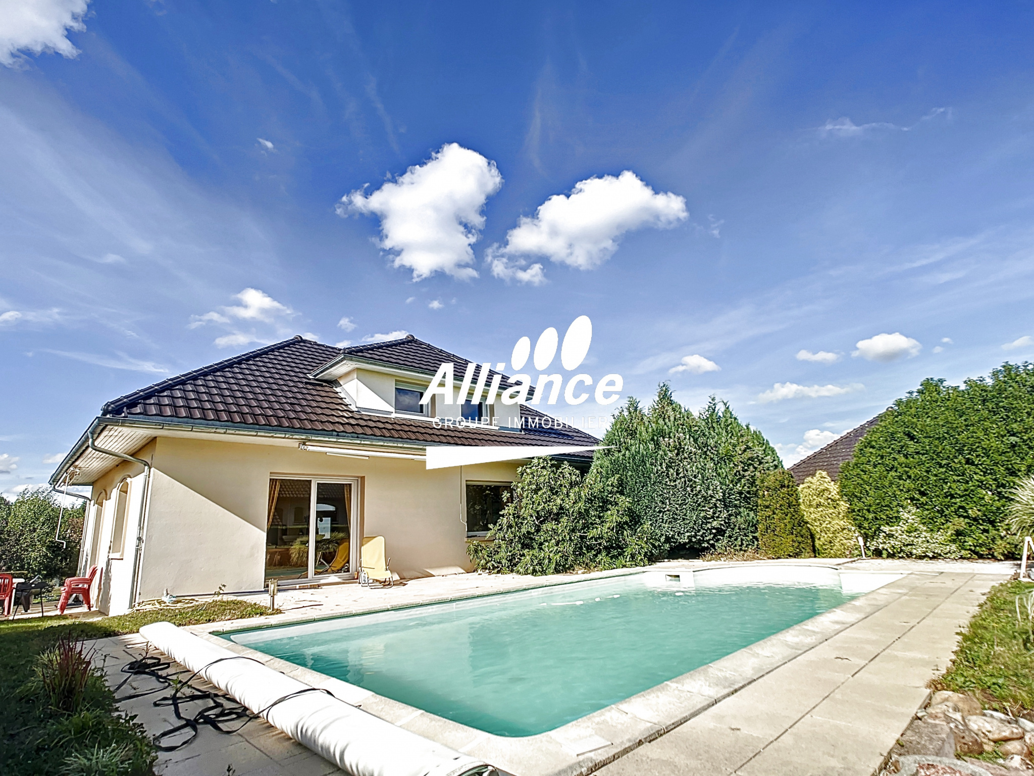
[[[61,508],[50,488],[23,490],[13,503],[0,497],[0,571],[27,571],[47,579],[73,576],[84,511],[82,506],[64,510],[62,547],[54,539]]]

